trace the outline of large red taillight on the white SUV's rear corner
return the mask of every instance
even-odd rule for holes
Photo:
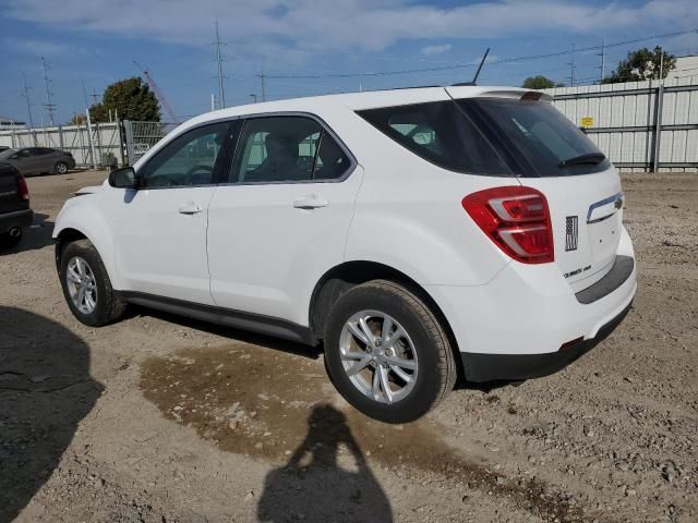
[[[469,194],[462,207],[502,251],[525,264],[555,259],[545,196],[531,187],[494,187]]]

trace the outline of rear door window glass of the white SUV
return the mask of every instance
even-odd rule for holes
[[[350,160],[322,125],[305,117],[265,117],[244,123],[232,183],[334,180]]]

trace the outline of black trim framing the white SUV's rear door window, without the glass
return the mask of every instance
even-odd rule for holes
[[[316,180],[311,178],[310,180],[279,180],[273,182],[232,182],[230,179],[232,177],[232,168],[236,166],[239,155],[241,154],[241,149],[243,148],[241,144],[241,137],[244,131],[244,124],[248,120],[256,120],[260,118],[275,118],[275,117],[299,117],[299,118],[310,118],[314,120],[321,126],[321,136],[324,133],[329,134],[333,139],[339,145],[339,148],[342,150],[347,158],[349,159],[349,166],[347,167],[344,174],[339,178],[326,179],[326,180]],[[270,111],[270,112],[258,112],[252,114],[243,114],[240,115],[240,125],[237,127],[237,139],[234,146],[234,154],[231,157],[231,161],[228,163],[228,177],[221,177],[221,182],[218,184],[219,186],[243,186],[243,185],[297,185],[297,184],[309,184],[309,183],[341,183],[347,180],[353,172],[357,170],[357,166],[359,162],[357,158],[351,153],[351,149],[347,147],[347,145],[339,138],[337,133],[317,114],[305,111]],[[317,146],[317,150],[320,150],[320,146]],[[317,153],[317,151],[316,151]],[[222,181],[227,178],[227,181]]]

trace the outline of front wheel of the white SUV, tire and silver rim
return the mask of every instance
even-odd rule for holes
[[[65,302],[83,324],[99,327],[123,316],[125,304],[113,292],[99,253],[88,240],[62,250],[60,278]]]

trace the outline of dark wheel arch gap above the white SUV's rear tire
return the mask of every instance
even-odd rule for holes
[[[446,315],[436,301],[413,278],[394,267],[377,262],[345,262],[323,275],[315,284],[310,302],[309,325],[313,336],[318,340],[324,338],[327,315],[339,296],[349,289],[372,280],[388,280],[399,283],[417,295],[430,308],[448,336],[450,348],[454,351],[454,356],[456,356],[458,375],[459,377],[462,376],[458,342],[446,319]]]

